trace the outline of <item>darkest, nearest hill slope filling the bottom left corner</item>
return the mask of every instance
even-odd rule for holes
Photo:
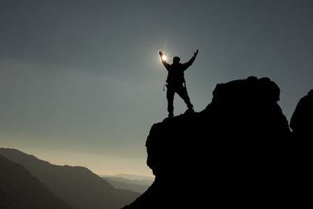
[[[53,194],[38,178],[0,155],[0,208],[73,209]]]

